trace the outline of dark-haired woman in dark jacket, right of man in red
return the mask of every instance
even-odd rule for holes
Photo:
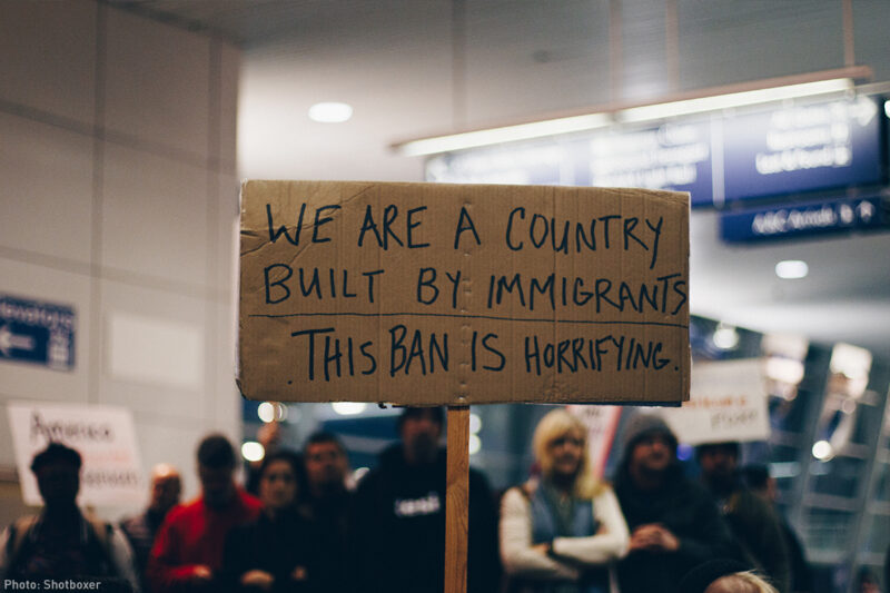
[[[263,461],[258,472],[263,512],[226,537],[224,581],[231,591],[320,591],[314,580],[317,537],[295,505],[301,472],[299,456],[286,449]]]

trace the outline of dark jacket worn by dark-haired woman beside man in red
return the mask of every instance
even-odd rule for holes
[[[275,593],[326,591],[316,586],[316,541],[317,534],[296,510],[275,520],[260,513],[255,522],[233,527],[226,537],[224,581],[230,591],[250,591],[240,585],[241,575],[258,570],[275,577]],[[295,571],[303,577],[294,579]]]

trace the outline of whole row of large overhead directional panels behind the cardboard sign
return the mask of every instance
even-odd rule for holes
[[[752,108],[437,155],[429,181],[688,191],[692,207],[883,179],[882,99]]]

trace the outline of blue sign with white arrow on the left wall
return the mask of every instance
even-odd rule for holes
[[[75,366],[75,310],[65,305],[0,295],[0,360]]]

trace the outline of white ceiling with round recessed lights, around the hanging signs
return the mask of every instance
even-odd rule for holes
[[[810,1],[807,11],[798,2],[679,0],[674,75],[665,58],[670,2],[657,0],[624,0],[617,20],[609,0],[110,3],[244,48],[245,178],[422,180],[422,159],[396,156],[390,142],[844,60],[833,0]],[[856,7],[857,47],[890,55],[887,36],[873,26],[890,18],[887,3]],[[610,19],[622,34],[623,66],[614,72]],[[884,62],[868,53],[858,60],[879,77]],[[349,102],[354,118],[309,121],[308,107],[322,100]],[[890,234],[733,247],[718,239],[718,215],[696,210],[691,241],[694,314],[847,342],[890,362]],[[782,259],[808,261],[810,275],[780,280],[773,268]]]

